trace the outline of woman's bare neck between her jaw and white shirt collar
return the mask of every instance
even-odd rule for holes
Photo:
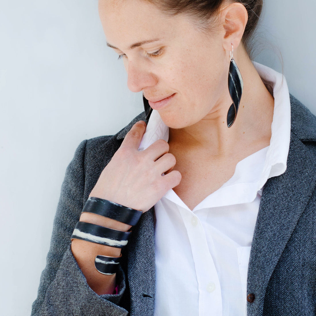
[[[274,99],[245,52],[240,53],[236,62],[244,89],[234,124],[227,127],[227,112],[232,103],[227,88],[222,101],[204,119],[185,128],[170,128],[170,145],[185,150],[209,150],[211,155],[223,157],[245,147],[256,152],[269,145]]]

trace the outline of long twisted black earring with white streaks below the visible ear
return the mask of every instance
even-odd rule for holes
[[[240,71],[235,63],[233,53],[234,53],[234,46],[233,46],[232,52],[230,52],[230,65],[229,65],[229,73],[228,73],[228,90],[229,90],[230,97],[232,98],[232,101],[233,101],[233,104],[229,107],[228,113],[227,113],[227,126],[228,127],[232,126],[236,119],[242,90],[244,88],[244,82],[242,80]]]

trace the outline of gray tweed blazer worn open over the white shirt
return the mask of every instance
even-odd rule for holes
[[[247,282],[247,293],[255,295],[247,303],[247,315],[252,316],[316,313],[316,118],[293,96],[290,100],[287,169],[264,185],[252,240]],[[76,149],[62,185],[32,315],[153,315],[154,208],[142,215],[122,250],[118,295],[92,291],[70,250],[70,236],[101,171],[131,126],[144,118],[141,113],[118,134],[85,140]]]

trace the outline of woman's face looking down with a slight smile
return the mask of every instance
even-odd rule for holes
[[[100,0],[99,14],[108,45],[123,55],[128,88],[154,102],[172,95],[151,103],[166,125],[216,118],[219,104],[230,105],[222,31],[201,32],[185,15],[168,16],[144,0]]]

